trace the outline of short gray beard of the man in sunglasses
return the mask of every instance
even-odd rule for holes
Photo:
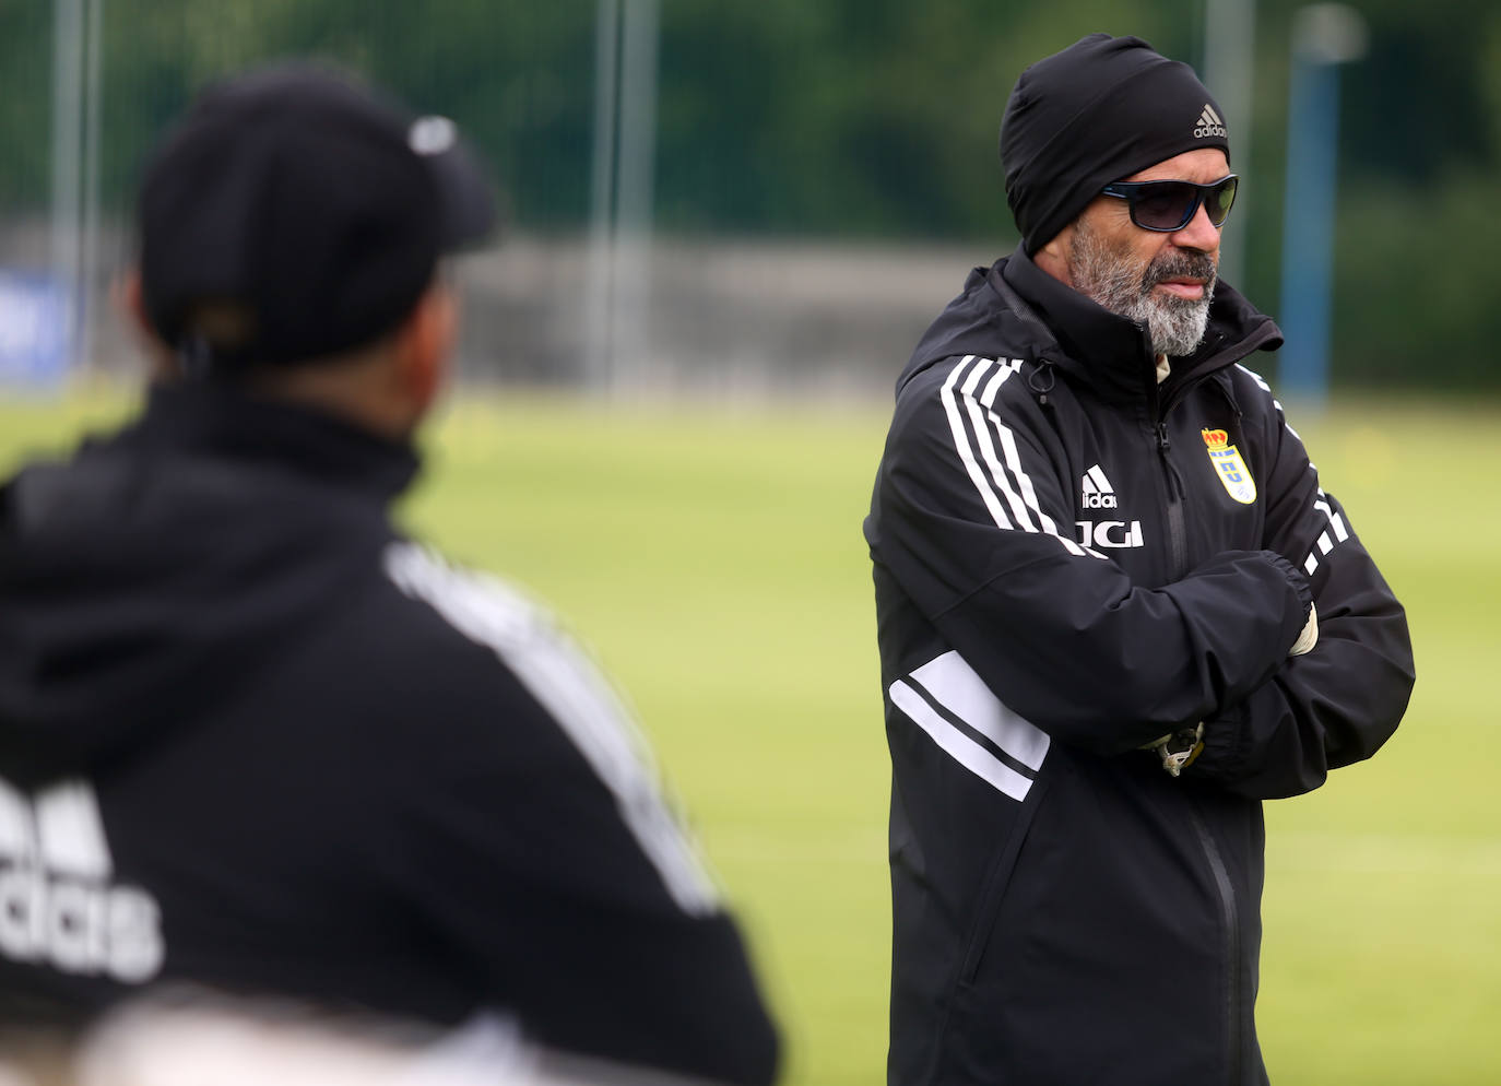
[[[1214,260],[1207,252],[1178,249],[1160,254],[1145,272],[1123,258],[1084,222],[1069,243],[1073,287],[1103,309],[1147,326],[1151,350],[1168,357],[1184,357],[1204,341],[1214,297]],[[1163,279],[1192,275],[1207,279],[1204,297],[1187,299],[1153,293]]]

